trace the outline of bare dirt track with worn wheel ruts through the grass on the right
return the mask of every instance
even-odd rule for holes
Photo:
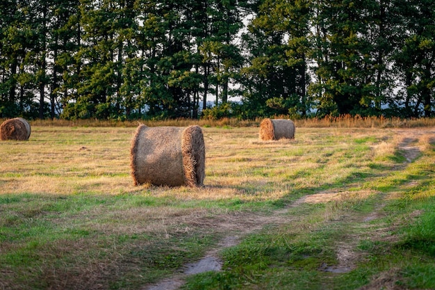
[[[420,138],[427,138],[427,136],[432,136],[429,138],[435,138],[435,129],[397,129],[397,138],[401,141],[397,146],[398,150],[401,150],[406,163],[411,163],[413,160],[420,156],[421,148],[418,146],[418,140]],[[425,137],[424,137],[425,136]],[[407,166],[404,164],[403,166]],[[409,182],[412,185],[413,181]],[[172,277],[162,280],[157,284],[146,285],[142,287],[142,290],[175,290],[184,284],[184,279],[188,275],[193,275],[197,273],[204,273],[207,271],[220,271],[222,267],[222,261],[218,256],[220,250],[224,248],[237,245],[240,239],[246,234],[252,234],[265,225],[280,225],[285,223],[291,223],[292,219],[286,215],[288,209],[293,207],[298,207],[304,203],[325,203],[331,200],[339,200],[343,198],[347,191],[322,191],[313,195],[306,195],[299,200],[289,204],[286,209],[281,209],[275,211],[272,216],[259,216],[254,214],[236,214],[233,216],[218,217],[213,220],[213,227],[220,228],[223,232],[236,233],[225,236],[217,247],[211,249],[204,255],[202,259],[193,264],[187,264],[179,270],[179,273],[175,273]],[[361,198],[364,198],[365,193],[361,192]],[[380,196],[380,200],[385,200],[387,196]],[[364,227],[370,220],[374,220],[379,217],[379,211],[384,207],[384,203],[379,203],[379,205],[370,214],[365,216],[352,216],[349,218],[352,223],[356,226]],[[418,213],[416,213],[418,215]],[[377,239],[377,237],[383,236],[384,232],[388,232],[388,228],[379,229],[377,232],[372,232],[372,238]],[[319,271],[331,272],[331,273],[347,273],[352,271],[355,267],[356,261],[361,259],[361,254],[354,252],[354,248],[359,243],[361,237],[359,236],[349,236],[348,239],[340,241],[337,243],[336,255],[338,257],[338,264],[335,266],[329,266],[327,264],[322,264],[319,267]],[[361,290],[375,290],[375,289],[395,289],[397,285],[394,285],[393,276],[395,272],[389,271],[389,273],[382,273],[377,277],[372,283],[361,288]]]

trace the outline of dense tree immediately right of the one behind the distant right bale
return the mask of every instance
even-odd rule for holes
[[[322,114],[363,112],[363,99],[372,95],[373,44],[368,31],[372,0],[328,0],[316,3],[315,51],[318,95]]]

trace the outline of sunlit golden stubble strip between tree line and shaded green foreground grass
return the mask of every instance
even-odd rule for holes
[[[409,130],[409,131],[408,131]],[[8,141],[1,150],[1,193],[118,195],[151,191],[156,196],[219,200],[279,199],[289,188],[333,184],[367,168],[372,158],[389,156],[413,129],[300,128],[295,140],[260,141],[255,127],[203,128],[206,178],[202,188],[134,186],[129,148],[132,127],[40,127],[33,138]],[[397,134],[398,132],[398,134]],[[370,150],[354,139],[372,138]],[[428,146],[432,134],[418,137]],[[416,140],[417,142],[417,140]]]

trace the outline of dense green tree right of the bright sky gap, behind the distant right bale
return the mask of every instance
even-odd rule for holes
[[[258,3],[256,17],[243,39],[249,50],[246,101],[254,111],[305,115],[309,51],[309,1]],[[266,108],[268,106],[269,108]],[[264,111],[265,110],[265,111]]]

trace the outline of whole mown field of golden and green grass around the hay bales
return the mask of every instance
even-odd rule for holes
[[[435,127],[203,124],[201,188],[133,186],[135,129],[0,143],[0,289],[435,289]]]

